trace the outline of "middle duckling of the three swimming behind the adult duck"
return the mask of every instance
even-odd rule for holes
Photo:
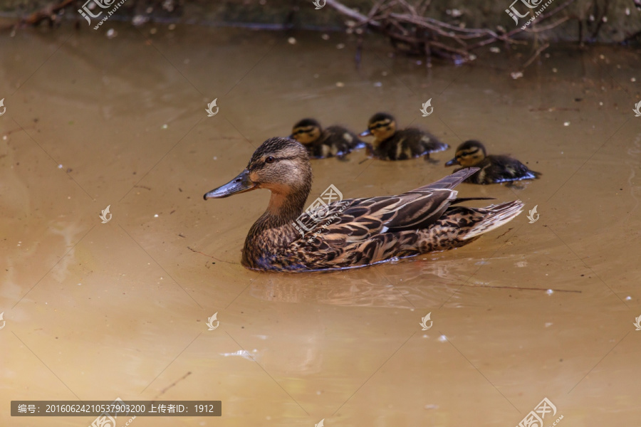
[[[429,160],[429,153],[443,151],[448,144],[440,142],[437,137],[424,130],[408,127],[397,130],[396,119],[386,112],[378,112],[368,123],[368,130],[360,137],[374,136],[368,154],[381,160],[406,160],[424,156]]]

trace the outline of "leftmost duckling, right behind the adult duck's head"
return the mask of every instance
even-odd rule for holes
[[[365,142],[345,127],[330,126],[323,129],[314,119],[303,119],[293,125],[290,138],[303,144],[312,159],[334,156],[344,159],[351,151],[365,147]]]

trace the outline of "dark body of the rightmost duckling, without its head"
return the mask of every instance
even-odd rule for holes
[[[504,155],[490,155],[475,167],[479,172],[469,176],[464,182],[470,184],[496,184],[505,181],[520,181],[521,179],[536,179],[541,174],[531,171],[525,164],[513,157]],[[459,168],[460,170],[463,168]]]

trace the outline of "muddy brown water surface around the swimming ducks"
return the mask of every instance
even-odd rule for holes
[[[222,401],[222,418],[140,427],[515,426],[543,398],[545,426],[641,424],[638,51],[555,48],[513,79],[530,51],[427,69],[368,38],[357,69],[337,34],[105,23],[0,44],[1,425],[93,421],[12,418],[11,400],[116,397]],[[268,192],[202,194],[301,117],[358,131],[377,110],[542,172],[459,186],[526,211],[464,248],[372,268],[242,268]],[[453,154],[315,161],[310,201],[329,184],[407,191]]]

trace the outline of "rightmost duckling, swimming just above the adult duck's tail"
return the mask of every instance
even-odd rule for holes
[[[465,182],[469,184],[494,184],[504,181],[520,181],[521,179],[537,179],[541,172],[528,169],[525,164],[509,156],[488,156],[483,144],[469,140],[459,145],[454,159],[445,166],[460,164],[454,169],[457,172],[465,167],[478,167],[479,172],[469,176]]]

